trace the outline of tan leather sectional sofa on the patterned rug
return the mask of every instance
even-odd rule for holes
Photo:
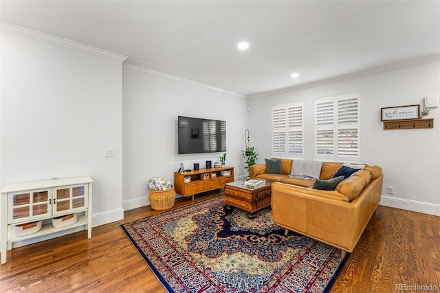
[[[315,180],[289,177],[292,160],[282,160],[283,174],[265,173],[265,164],[251,166],[252,179],[272,184],[274,223],[346,252],[353,252],[382,195],[380,166],[368,166],[340,182],[334,191],[311,188]],[[321,180],[329,180],[342,162],[324,162]]]

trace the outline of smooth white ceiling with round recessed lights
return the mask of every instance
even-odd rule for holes
[[[440,1],[2,0],[0,12],[245,96],[440,54]]]

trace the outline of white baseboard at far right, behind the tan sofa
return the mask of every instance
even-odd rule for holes
[[[440,217],[440,204],[430,202],[420,202],[413,199],[404,199],[382,195],[379,204],[381,206],[390,206],[391,208],[401,208],[403,210],[412,210],[413,212],[424,213]]]

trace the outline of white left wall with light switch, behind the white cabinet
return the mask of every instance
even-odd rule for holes
[[[2,187],[90,175],[93,225],[123,218],[121,61],[1,32],[0,110]]]

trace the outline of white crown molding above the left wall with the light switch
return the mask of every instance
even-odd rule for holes
[[[23,36],[25,38],[33,39],[36,41],[50,43],[52,45],[57,45],[60,47],[65,47],[67,49],[108,58],[121,63],[124,62],[124,60],[128,57],[107,50],[102,50],[98,47],[93,47],[90,45],[85,45],[83,43],[78,43],[76,41],[63,39],[59,36],[54,36],[53,34],[46,34],[45,32],[39,32],[38,30],[32,30],[30,28],[25,28],[23,26],[15,25],[13,23],[8,23],[5,21],[0,21],[0,31],[8,32],[10,34],[16,34],[17,36]]]

